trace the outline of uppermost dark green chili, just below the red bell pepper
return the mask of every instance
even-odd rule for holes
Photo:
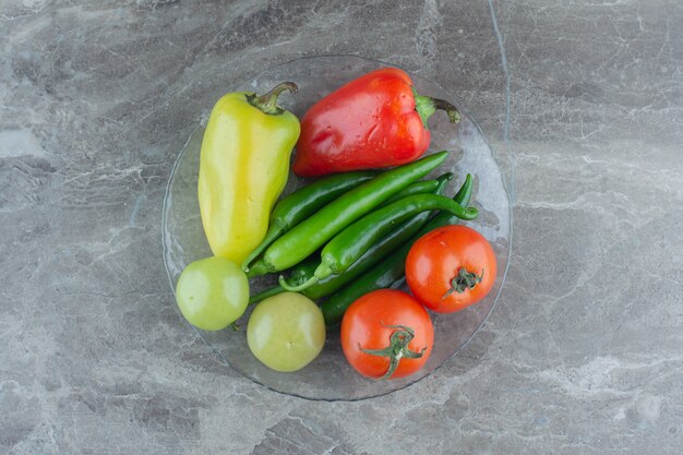
[[[249,272],[249,264],[271,246],[278,237],[313,215],[324,205],[331,203],[352,188],[371,180],[375,171],[357,171],[335,173],[308,184],[284,197],[271,213],[271,225],[263,241],[242,263],[242,270]]]

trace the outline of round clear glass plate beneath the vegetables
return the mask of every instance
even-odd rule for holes
[[[317,99],[346,82],[387,63],[349,56],[327,56],[290,61],[271,68],[252,81],[226,87],[226,92],[241,89],[265,93],[281,81],[299,85],[296,95],[283,95],[280,104],[301,117]],[[447,99],[458,105],[457,96],[447,93],[432,81],[411,74],[419,93]],[[250,380],[273,391],[310,399],[355,400],[383,395],[403,388],[427,375],[453,357],[477,332],[491,312],[503,285],[510,253],[511,202],[506,178],[496,163],[492,149],[467,110],[458,105],[463,120],[455,127],[443,112],[430,119],[432,143],[428,153],[448,149],[447,160],[432,176],[453,171],[447,193],[453,195],[469,172],[475,177],[472,204],[479,217],[469,226],[481,232],[493,246],[498,255],[499,276],[489,296],[479,303],[453,314],[432,313],[435,342],[432,355],[422,370],[399,380],[373,381],[362,378],[349,367],[339,345],[338,331],[328,331],[322,354],[309,366],[293,373],[278,373],[259,362],[247,345],[245,330],[232,332],[196,331],[218,354],[227,366]],[[164,206],[164,261],[171,286],[182,270],[192,261],[209,256],[204,238],[196,197],[196,181],[203,125],[197,128],[180,152],[168,182]],[[293,175],[284,194],[301,187],[304,181]],[[275,277],[262,277],[251,283],[256,292],[275,283]],[[245,327],[250,310],[240,320]],[[180,314],[180,312],[179,312]],[[180,322],[180,321],[179,321]]]

